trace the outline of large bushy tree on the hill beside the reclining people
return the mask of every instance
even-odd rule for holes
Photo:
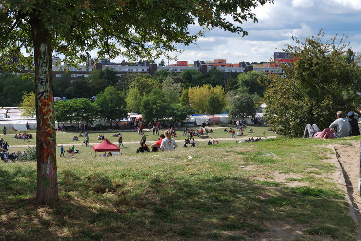
[[[303,135],[307,123],[327,128],[337,111],[360,106],[357,81],[360,66],[342,55],[348,44],[337,37],[324,40],[324,33],[296,39],[285,51],[297,57],[292,67],[283,66],[285,78],[271,75],[264,94],[266,112],[274,130],[282,135]]]

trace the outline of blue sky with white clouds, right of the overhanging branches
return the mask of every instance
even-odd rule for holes
[[[188,64],[214,59],[227,59],[227,63],[269,61],[274,52],[282,52],[286,44],[294,44],[292,36],[316,36],[321,29],[325,40],[345,34],[351,49],[361,52],[361,0],[275,0],[274,4],[259,6],[253,12],[259,21],[241,25],[248,36],[214,29],[199,38],[197,45],[178,45],[184,52],[171,56]],[[190,28],[195,29],[196,26]],[[122,59],[120,56],[113,61]],[[168,60],[164,58],[164,61],[167,65]],[[169,60],[170,64],[175,62]]]

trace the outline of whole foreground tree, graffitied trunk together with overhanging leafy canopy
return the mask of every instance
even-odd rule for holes
[[[254,7],[273,0],[1,0],[0,67],[9,68],[17,56],[29,67],[35,63],[37,107],[37,196],[41,203],[58,200],[55,116],[52,89],[52,54],[62,62],[77,64],[97,55],[114,58],[157,58],[188,45],[203,31],[189,33],[189,26],[247,34],[236,25],[251,19]],[[226,16],[232,22],[226,20]],[[20,49],[25,48],[30,58]],[[33,58],[34,57],[34,58]],[[15,64],[14,70],[19,71]],[[23,67],[24,68],[24,67]]]

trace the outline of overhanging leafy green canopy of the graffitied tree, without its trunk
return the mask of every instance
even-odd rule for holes
[[[176,43],[194,43],[210,28],[247,35],[238,24],[257,21],[251,11],[266,2],[273,0],[1,0],[0,56],[20,57],[20,48],[32,53],[29,23],[36,17],[52,37],[53,50],[66,56],[65,63],[85,62],[94,49],[110,58],[157,58],[177,51]],[[188,27],[195,24],[203,28],[190,33]]]

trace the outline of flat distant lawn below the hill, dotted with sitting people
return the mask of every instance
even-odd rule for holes
[[[231,126],[227,127],[227,130],[229,130]],[[248,133],[249,129],[253,129],[253,133]],[[255,126],[255,127],[248,127],[244,130],[244,136],[245,137],[263,137],[263,136],[277,136],[272,131],[267,131],[267,126]],[[164,129],[165,130],[165,129]],[[162,134],[164,130],[160,130],[159,133]],[[192,130],[200,130],[200,128],[192,128]],[[210,133],[210,138],[217,139],[217,138],[230,138],[231,133],[224,132],[224,128],[221,129],[214,129],[213,133]],[[29,133],[32,133],[35,131],[30,131]],[[98,140],[99,134],[104,134],[105,138],[107,138],[109,141],[113,143],[118,143],[118,137],[113,137],[112,135],[114,133],[121,132],[123,135],[123,142],[131,142],[131,141],[139,141],[141,140],[141,135],[138,134],[138,132],[133,130],[104,130],[104,131],[89,131],[89,143],[100,143],[103,140]],[[180,129],[177,131],[177,137],[175,137],[176,140],[184,140],[185,136],[182,136],[183,129]],[[82,133],[84,134],[84,133]],[[147,138],[147,142],[155,142],[158,140],[159,135],[153,135],[153,131],[149,131],[148,129],[144,130],[144,134]],[[10,147],[12,146],[18,146],[18,145],[35,145],[36,144],[36,134],[33,133],[34,139],[31,139],[29,141],[24,140],[18,140],[14,139],[15,134],[7,134],[7,135],[0,135],[0,137],[3,137],[4,140],[9,144]],[[85,137],[78,137],[78,141],[72,141],[72,138],[74,135],[79,135],[79,132],[60,132],[57,131],[56,138],[57,138],[57,144],[81,144]],[[189,135],[188,135],[189,136]],[[238,136],[240,137],[240,136]],[[195,139],[200,139],[198,137],[195,137]]]

